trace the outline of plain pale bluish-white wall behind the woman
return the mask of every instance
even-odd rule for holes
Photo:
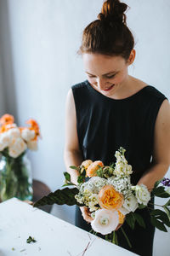
[[[131,7],[127,23],[137,42],[136,61],[129,72],[170,98],[170,2],[124,2]],[[6,20],[2,27],[8,112],[15,114],[20,125],[28,118],[37,119],[41,125],[39,150],[29,155],[33,177],[47,183],[52,190],[62,185],[65,171],[65,96],[71,84],[85,79],[82,60],[77,56],[82,29],[96,19],[102,3],[102,0],[0,2]],[[56,206],[53,214],[74,222],[74,207]],[[170,231],[156,232],[155,256],[168,254],[169,238]]]

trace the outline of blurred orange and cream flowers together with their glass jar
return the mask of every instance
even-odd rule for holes
[[[11,197],[31,200],[31,164],[26,149],[37,150],[39,126],[34,119],[26,122],[30,127],[18,127],[14,117],[4,114],[0,119],[0,200]]]

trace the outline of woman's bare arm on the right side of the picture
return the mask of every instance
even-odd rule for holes
[[[170,104],[165,100],[156,118],[153,166],[139,179],[151,191],[154,183],[165,176],[170,165]]]

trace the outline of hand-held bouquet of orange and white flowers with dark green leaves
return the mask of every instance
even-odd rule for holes
[[[130,175],[133,173],[132,166],[127,164],[125,149],[116,151],[116,163],[104,166],[101,161],[84,160],[81,166],[70,166],[79,172],[78,185],[71,183],[71,176],[65,172],[64,186],[72,188],[58,189],[54,193],[42,197],[34,204],[34,207],[52,205],[54,203],[69,206],[86,206],[93,218],[91,222],[92,232],[105,235],[107,241],[118,244],[116,227],[127,221],[133,229],[135,222],[145,227],[144,219],[137,208],[148,207],[150,192],[144,184],[133,185]],[[88,181],[86,180],[88,177]],[[159,185],[161,183],[161,185]],[[153,195],[168,198],[170,193],[166,186],[170,186],[169,179],[163,179],[155,184]],[[170,227],[170,200],[163,206],[163,211],[150,211],[151,223],[159,230],[167,231]],[[126,217],[126,218],[125,218]],[[122,226],[123,227],[123,226]],[[130,241],[121,227],[122,233]],[[109,235],[109,236],[108,236]]]

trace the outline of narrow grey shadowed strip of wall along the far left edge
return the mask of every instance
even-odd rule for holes
[[[0,52],[2,61],[0,67],[2,69],[0,72],[2,73],[2,88],[0,93],[0,100],[1,98],[3,99],[3,111],[5,111],[5,113],[13,114],[17,122],[17,102],[12,49],[13,48],[11,44],[11,32],[9,26],[8,1],[0,1]]]

